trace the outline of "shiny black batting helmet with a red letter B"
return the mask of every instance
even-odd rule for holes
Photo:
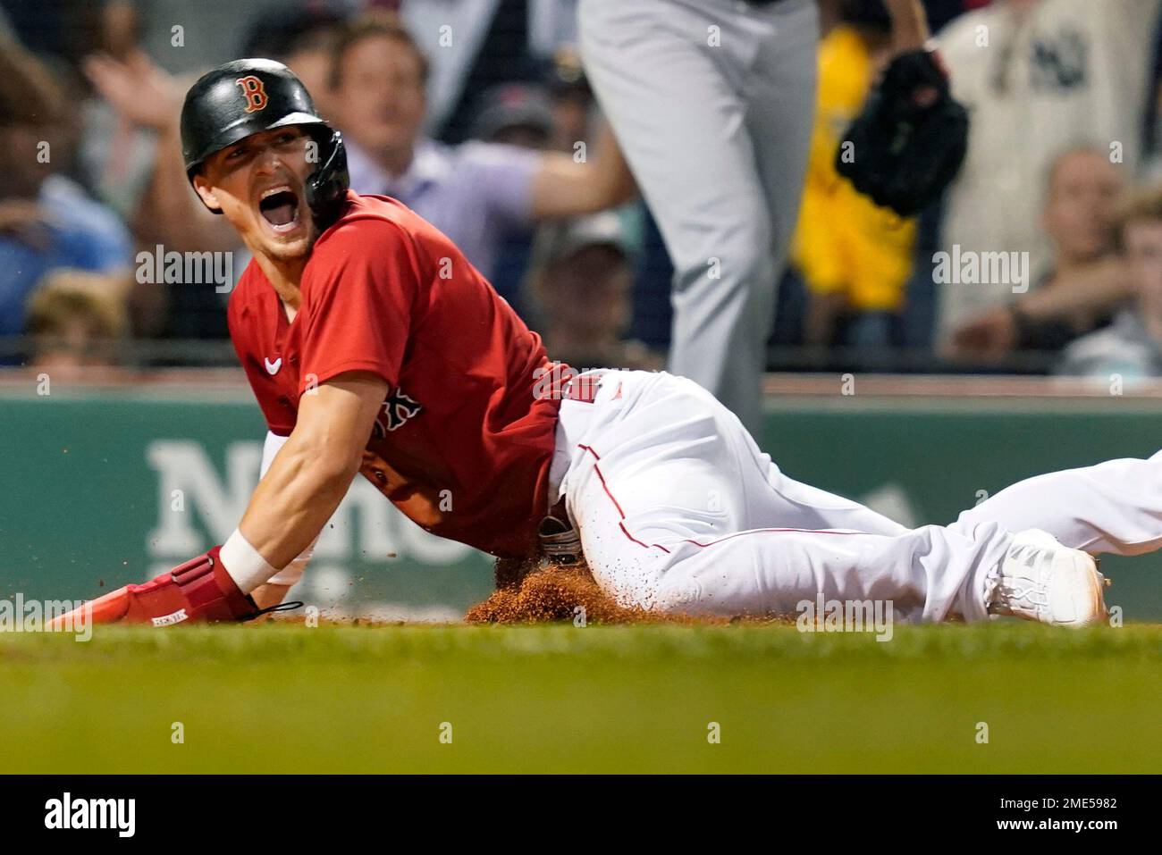
[[[252,134],[292,124],[304,125],[318,144],[318,168],[307,177],[306,193],[315,222],[327,228],[350,184],[343,137],[320,118],[294,72],[272,59],[236,59],[189,87],[181,107],[181,153],[189,182],[210,155]]]

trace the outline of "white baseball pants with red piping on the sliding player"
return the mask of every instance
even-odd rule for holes
[[[904,622],[978,620],[1017,531],[1121,554],[1162,545],[1162,454],[1042,475],[953,525],[909,530],[783,475],[690,380],[595,374],[591,403],[561,403],[550,497],[565,497],[595,580],[624,605],[794,615],[822,594],[890,601]]]

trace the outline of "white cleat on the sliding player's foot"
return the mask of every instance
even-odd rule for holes
[[[989,615],[1052,626],[1089,626],[1109,617],[1107,584],[1092,555],[1030,529],[1013,536],[1000,566],[989,575],[984,604]]]

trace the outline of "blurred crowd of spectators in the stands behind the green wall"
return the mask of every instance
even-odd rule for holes
[[[769,367],[1162,376],[1162,0],[927,0],[973,124],[914,220],[833,168],[887,14],[819,5]],[[229,287],[152,273],[249,260],[191,191],[178,120],[201,72],[263,56],[343,131],[352,187],[452,237],[553,358],[664,366],[673,268],[575,20],[575,0],[0,0],[0,365],[231,361]]]

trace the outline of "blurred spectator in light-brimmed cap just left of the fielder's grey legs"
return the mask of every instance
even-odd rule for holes
[[[554,359],[584,368],[661,368],[665,359],[625,340],[633,258],[615,211],[546,225],[538,235],[530,288]]]

